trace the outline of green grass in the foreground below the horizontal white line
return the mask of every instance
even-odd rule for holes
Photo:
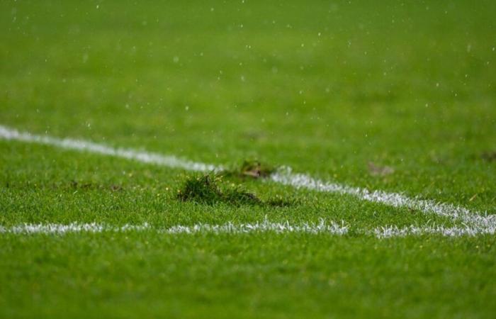
[[[12,269],[0,274],[6,318],[490,318],[494,310],[493,237],[142,233],[1,241],[9,243],[2,267]]]

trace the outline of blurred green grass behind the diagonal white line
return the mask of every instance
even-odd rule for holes
[[[0,121],[494,212],[494,1],[4,1]],[[373,176],[368,163],[393,167]]]

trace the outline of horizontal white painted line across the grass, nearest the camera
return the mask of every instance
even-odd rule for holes
[[[13,235],[30,235],[30,234],[45,234],[45,235],[66,235],[70,233],[129,233],[129,232],[142,232],[150,231],[162,234],[249,234],[249,233],[307,233],[307,234],[327,234],[343,236],[349,233],[349,226],[343,221],[330,223],[325,220],[320,220],[319,223],[303,223],[294,225],[289,222],[273,223],[269,220],[264,220],[257,223],[224,223],[220,225],[212,224],[196,224],[196,225],[174,225],[169,228],[153,228],[147,223],[142,225],[123,225],[112,226],[108,224],[98,223],[70,223],[70,224],[22,224],[12,227],[0,226],[0,234],[13,234]],[[377,238],[391,238],[391,237],[406,237],[406,236],[422,236],[422,235],[441,235],[445,237],[461,237],[461,236],[475,236],[481,234],[494,235],[496,228],[480,230],[468,227],[451,227],[445,228],[443,226],[425,226],[417,227],[411,225],[410,227],[398,228],[396,226],[384,226],[375,228],[373,230],[356,229],[357,235],[368,235]]]

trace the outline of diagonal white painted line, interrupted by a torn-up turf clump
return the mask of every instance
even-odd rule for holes
[[[85,140],[74,140],[70,138],[60,139],[44,135],[33,135],[26,132],[19,132],[18,130],[7,128],[3,125],[0,125],[0,138],[52,145],[67,150],[78,150],[113,157],[122,157],[125,159],[133,159],[138,162],[197,172],[220,172],[223,169],[220,165],[191,162],[172,155],[166,156],[129,148],[114,148]],[[468,228],[480,231],[480,233],[484,233],[486,230],[496,227],[496,216],[488,215],[487,212],[480,213],[469,211],[467,208],[454,206],[449,203],[436,203],[435,201],[430,200],[410,198],[398,193],[369,191],[368,189],[331,183],[320,179],[314,179],[307,174],[295,174],[291,172],[291,169],[289,168],[281,169],[278,173],[272,174],[271,180],[279,184],[293,186],[296,189],[304,188],[328,193],[346,194],[355,196],[363,201],[383,203],[393,207],[408,207],[418,209],[424,213],[435,213],[439,216],[453,218],[453,220],[461,220]]]

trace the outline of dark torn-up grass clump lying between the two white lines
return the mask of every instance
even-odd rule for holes
[[[291,206],[292,201],[284,201],[280,196],[262,201],[257,195],[246,191],[242,186],[225,186],[222,189],[222,175],[205,174],[186,178],[181,189],[177,191],[180,201],[193,201],[196,203],[212,205],[214,203],[228,203],[230,205],[256,205],[269,207]]]

